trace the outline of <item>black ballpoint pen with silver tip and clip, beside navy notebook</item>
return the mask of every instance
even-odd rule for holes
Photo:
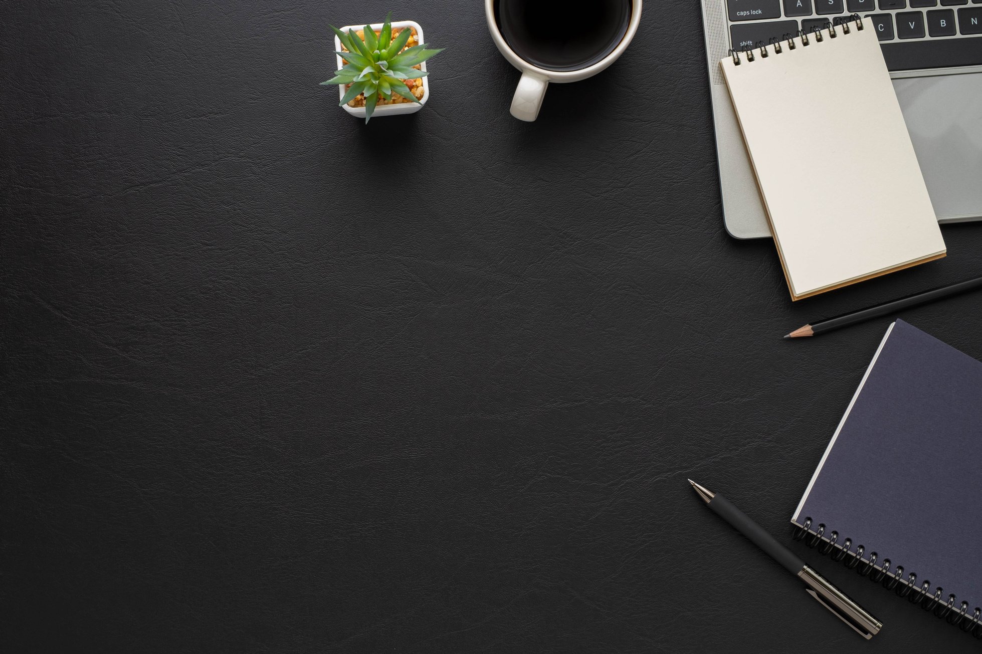
[[[804,561],[797,558],[790,549],[779,543],[760,525],[750,520],[730,500],[700,486],[692,479],[689,479],[688,482],[692,484],[699,497],[713,510],[713,513],[730,523],[737,531],[770,554],[792,575],[804,581],[808,586],[805,589],[806,592],[836,614],[846,625],[855,629],[859,635],[866,639],[872,638],[880,632],[880,629],[883,628],[880,621],[866,613],[861,606],[846,597],[836,586],[806,566]]]

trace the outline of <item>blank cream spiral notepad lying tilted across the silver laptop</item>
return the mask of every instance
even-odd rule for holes
[[[869,19],[720,62],[791,299],[945,256]]]

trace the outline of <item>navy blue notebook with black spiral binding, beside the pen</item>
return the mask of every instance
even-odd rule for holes
[[[894,323],[791,522],[898,594],[977,625],[982,363]]]

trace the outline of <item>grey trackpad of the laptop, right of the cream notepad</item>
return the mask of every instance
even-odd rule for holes
[[[982,217],[982,73],[894,79],[894,88],[938,219]]]

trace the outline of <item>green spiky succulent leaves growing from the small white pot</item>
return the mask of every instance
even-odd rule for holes
[[[341,99],[341,105],[351,102],[359,93],[365,96],[365,123],[371,118],[378,104],[379,96],[386,100],[392,99],[396,93],[407,100],[419,103],[419,100],[409,90],[404,79],[425,77],[427,73],[412,68],[421,64],[440,50],[427,49],[425,44],[411,48],[406,47],[411,30],[405,28],[392,37],[392,13],[385,19],[379,34],[368,25],[364,26],[359,37],[354,29],[348,33],[334,25],[331,29],[338,35],[341,44],[348,52],[338,52],[341,58],[348,62],[340,71],[335,71],[334,77],[321,84],[351,84],[348,92]]]

